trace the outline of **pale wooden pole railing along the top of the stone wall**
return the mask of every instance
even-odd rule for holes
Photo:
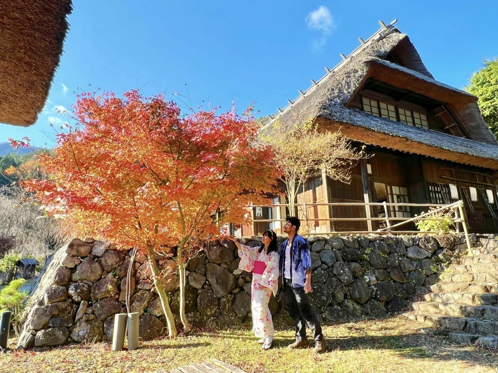
[[[246,206],[248,208],[254,207],[288,207],[288,204],[272,204],[272,205],[251,205]],[[382,217],[312,217],[308,218],[307,209],[309,207],[315,206],[365,206],[366,208],[370,207],[383,207],[385,216]],[[462,224],[463,231],[465,233],[465,238],[467,240],[467,245],[470,250],[470,241],[469,241],[469,233],[467,230],[467,223],[465,221],[465,210],[463,207],[463,201],[459,200],[451,204],[441,205],[435,203],[388,203],[388,202],[337,202],[337,203],[300,203],[299,207],[302,209],[299,213],[299,218],[304,220],[305,227],[309,229],[311,222],[317,221],[364,221],[364,222],[372,222],[379,221],[384,222],[385,227],[379,228],[377,230],[366,230],[366,231],[320,231],[320,232],[312,232],[310,230],[309,233],[313,234],[321,234],[321,235],[338,235],[338,234],[419,234],[419,233],[432,233],[432,231],[414,231],[414,230],[398,230],[400,226],[406,223],[415,222],[415,221],[441,221],[447,220],[447,218],[434,218],[430,215],[433,213],[448,211],[452,212],[452,217],[450,218],[455,226],[455,231],[460,233],[460,224]],[[432,208],[430,211],[422,213],[418,216],[414,217],[398,217],[398,216],[389,216],[390,211],[389,207],[397,208],[397,207],[427,207]],[[253,220],[254,223],[271,223],[271,222],[285,222],[285,218],[277,218],[277,219],[257,219]],[[393,222],[396,222],[393,224]],[[459,224],[460,223],[460,224]],[[283,225],[283,224],[282,224]],[[368,224],[370,226],[371,224]],[[396,228],[394,230],[394,228]]]

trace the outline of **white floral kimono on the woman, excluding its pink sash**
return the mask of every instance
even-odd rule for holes
[[[278,253],[275,251],[267,255],[265,250],[258,253],[258,247],[246,245],[241,245],[241,247],[242,251],[239,250],[239,256],[241,257],[239,268],[241,270],[252,272],[254,261],[256,260],[266,264],[266,269],[262,275],[252,274],[252,330],[256,337],[273,337],[275,330],[268,302],[271,293],[273,292],[273,295],[276,295],[278,290]]]

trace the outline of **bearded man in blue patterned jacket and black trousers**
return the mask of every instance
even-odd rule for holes
[[[289,238],[282,243],[279,256],[284,299],[296,327],[296,341],[289,348],[301,349],[309,346],[306,337],[308,324],[315,340],[313,353],[321,354],[325,352],[327,343],[323,339],[320,321],[308,302],[307,294],[311,292],[311,256],[308,242],[297,234],[300,226],[301,222],[297,217],[287,218],[283,231]]]

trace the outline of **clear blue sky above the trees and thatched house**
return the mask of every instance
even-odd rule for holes
[[[455,1],[74,1],[64,54],[47,104],[29,128],[0,124],[0,142],[27,136],[53,146],[78,87],[146,95],[186,94],[259,115],[318,80],[377,29],[397,18],[435,79],[462,88],[485,58],[498,56],[498,2]],[[204,100],[204,103],[203,103]]]

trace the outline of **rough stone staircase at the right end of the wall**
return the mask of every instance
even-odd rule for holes
[[[404,316],[439,328],[450,341],[498,348],[498,239],[481,238]]]

